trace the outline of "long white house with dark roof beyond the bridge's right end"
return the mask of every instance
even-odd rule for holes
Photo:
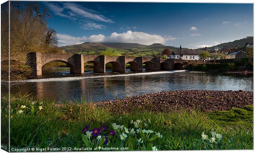
[[[185,59],[185,60],[199,60],[199,54],[205,52],[205,50],[191,50],[180,49],[178,51],[172,51],[169,55],[170,59]]]

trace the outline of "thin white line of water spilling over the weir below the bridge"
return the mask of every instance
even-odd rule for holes
[[[187,70],[176,70],[176,71],[157,71],[157,72],[144,72],[144,73],[116,74],[116,75],[94,75],[94,76],[81,76],[81,77],[28,79],[28,80],[17,80],[17,81],[11,81],[11,82],[72,81],[72,80],[81,80],[85,78],[105,78],[105,77],[119,77],[119,76],[130,76],[130,75],[152,75],[152,74],[176,73],[176,72],[186,72],[186,71]],[[2,82],[5,82],[5,81],[2,81]]]

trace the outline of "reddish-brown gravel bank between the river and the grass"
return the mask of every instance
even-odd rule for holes
[[[199,108],[201,111],[224,111],[231,107],[241,108],[252,104],[253,92],[242,90],[176,90],[102,101],[94,105],[114,112],[131,112],[134,110],[169,112],[184,108]]]

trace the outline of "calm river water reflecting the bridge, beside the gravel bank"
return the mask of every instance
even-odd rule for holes
[[[57,68],[58,69],[58,68]],[[109,72],[109,71],[108,71]],[[128,72],[129,73],[129,72]],[[111,74],[111,73],[107,73]],[[76,80],[53,79],[41,81],[40,78],[72,77],[66,69],[43,71],[43,76],[34,78],[35,82],[12,82],[11,92],[31,94],[37,98],[62,101],[80,101],[81,97],[92,101],[121,99],[139,94],[170,90],[246,90],[253,91],[253,76],[202,73],[202,72],[154,72],[149,75],[128,75],[114,77],[97,77],[99,74],[86,72]],[[7,91],[6,83],[2,82],[1,90]]]

